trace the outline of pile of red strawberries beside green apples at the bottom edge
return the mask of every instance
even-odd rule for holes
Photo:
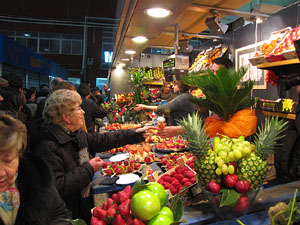
[[[144,223],[133,218],[130,210],[132,194],[131,187],[128,185],[124,190],[113,194],[103,206],[93,209],[91,225],[143,225]]]

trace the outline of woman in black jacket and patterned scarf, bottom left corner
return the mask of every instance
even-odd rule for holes
[[[0,112],[0,224],[71,225],[49,166],[26,145],[25,125]]]

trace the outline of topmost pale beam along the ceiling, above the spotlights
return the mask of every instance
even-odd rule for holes
[[[269,17],[268,14],[264,14],[264,13],[251,13],[251,12],[244,12],[235,9],[218,8],[218,7],[199,5],[199,4],[192,4],[191,6],[188,7],[188,10],[195,11],[195,12],[205,12],[205,13],[209,13],[211,11],[217,11],[219,13],[224,13],[227,15],[244,17],[246,20],[253,19],[255,17],[262,17],[262,18]]]

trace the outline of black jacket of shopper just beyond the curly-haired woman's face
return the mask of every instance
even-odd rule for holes
[[[81,108],[84,110],[85,125],[89,133],[94,133],[95,118],[103,118],[107,115],[105,109],[100,108],[92,100],[82,98]]]

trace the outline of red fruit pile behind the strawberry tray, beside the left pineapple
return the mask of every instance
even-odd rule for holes
[[[173,167],[177,166],[177,159],[182,156],[186,156],[188,161],[186,164],[191,167],[194,171],[194,161],[196,160],[196,156],[193,154],[185,154],[185,153],[172,153],[169,155],[164,155],[160,158],[160,162],[162,166],[166,167],[168,170],[172,169]]]

